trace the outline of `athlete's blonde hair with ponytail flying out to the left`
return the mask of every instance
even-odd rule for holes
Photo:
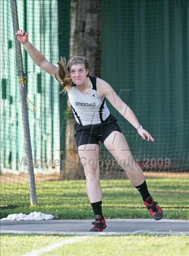
[[[65,92],[69,90],[72,86],[72,79],[70,77],[70,68],[76,64],[83,64],[85,69],[90,69],[88,60],[85,56],[73,56],[70,58],[67,63],[65,57],[60,57],[60,60],[57,62],[58,64],[58,75],[61,78],[59,86],[63,88],[61,92]],[[89,72],[87,74],[89,76]]]

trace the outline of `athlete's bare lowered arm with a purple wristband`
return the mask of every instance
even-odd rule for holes
[[[145,139],[147,137],[148,141],[154,142],[154,138],[142,127],[140,128],[140,123],[136,118],[134,112],[130,107],[121,100],[113,88],[102,79],[98,79],[97,82],[97,92],[100,97],[105,96],[112,106],[127,120],[129,121],[138,131],[139,135]]]

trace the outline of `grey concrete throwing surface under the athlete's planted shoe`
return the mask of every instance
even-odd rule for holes
[[[137,233],[189,235],[188,219],[106,219],[103,232],[89,232],[91,219],[1,221],[0,233],[64,235],[128,235]]]

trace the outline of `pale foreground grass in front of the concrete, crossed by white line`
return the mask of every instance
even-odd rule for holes
[[[22,256],[27,252],[47,247],[54,242],[72,239],[58,235],[1,235],[1,256]],[[75,237],[76,238],[76,237]],[[82,238],[81,238],[82,239]],[[42,256],[187,256],[189,237],[152,236],[147,234],[128,236],[84,237],[83,241],[63,245]]]

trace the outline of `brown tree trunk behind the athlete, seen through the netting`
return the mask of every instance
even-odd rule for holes
[[[100,76],[100,0],[72,0],[70,15],[70,57],[86,56],[90,64],[90,75]],[[67,101],[67,112],[72,112]],[[67,118],[65,179],[82,178],[79,174],[79,156],[74,137],[75,119]]]

